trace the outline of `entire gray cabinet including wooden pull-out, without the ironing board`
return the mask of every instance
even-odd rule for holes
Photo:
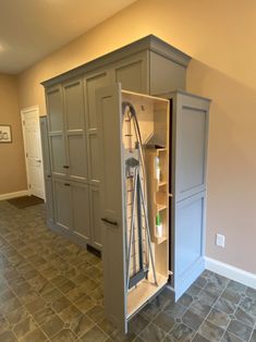
[[[120,142],[124,100],[137,106],[143,138],[147,137],[144,145],[155,146],[144,151],[145,168],[154,170],[158,160],[160,170],[166,170],[158,182],[154,172],[147,176],[147,193],[153,198],[147,203],[150,244],[157,273],[164,280],[160,283],[167,282],[168,272],[173,273],[169,280],[179,298],[204,269],[209,100],[184,91],[188,62],[190,57],[182,51],[147,36],[42,83],[49,149],[44,160],[50,160],[46,171],[48,222],[54,231],[81,245],[89,244],[97,249],[105,245],[106,308],[108,316],[124,330],[127,320],[151,296],[147,291],[132,295],[125,284],[122,193],[125,158]],[[182,90],[175,91],[178,88]],[[106,89],[109,96],[100,93]],[[157,98],[153,100],[149,95]],[[169,121],[163,123],[158,119],[168,103]],[[102,129],[103,118],[108,121]],[[168,139],[166,133],[158,134],[157,141],[154,134],[148,134],[166,130]],[[105,209],[102,204],[107,205]],[[118,229],[102,218],[118,223]],[[157,221],[161,223],[160,235]],[[155,286],[153,293],[159,289]],[[137,304],[132,305],[131,298]]]

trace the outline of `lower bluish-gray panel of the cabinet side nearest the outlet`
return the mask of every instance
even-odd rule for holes
[[[174,283],[178,300],[205,268],[205,192],[175,205]]]

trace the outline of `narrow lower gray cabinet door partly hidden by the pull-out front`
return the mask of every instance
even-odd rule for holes
[[[89,191],[92,242],[96,248],[101,249],[101,222],[99,211],[99,188],[92,186]]]

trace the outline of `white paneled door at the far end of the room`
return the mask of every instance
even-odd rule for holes
[[[38,108],[22,110],[28,193],[45,199],[44,169]]]

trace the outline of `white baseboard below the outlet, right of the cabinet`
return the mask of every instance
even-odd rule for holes
[[[220,276],[241,282],[242,284],[256,289],[256,274],[242,270],[241,268],[205,257],[206,269]]]

